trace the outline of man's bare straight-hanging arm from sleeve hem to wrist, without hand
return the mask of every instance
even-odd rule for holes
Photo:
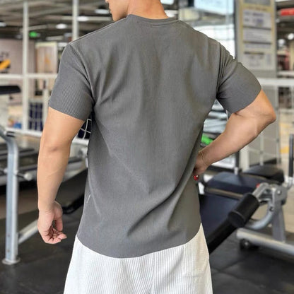
[[[37,162],[40,211],[47,211],[52,207],[69,161],[71,141],[82,125],[83,120],[49,107]]]

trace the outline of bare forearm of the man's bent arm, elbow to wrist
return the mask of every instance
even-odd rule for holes
[[[228,119],[225,131],[200,151],[201,157],[203,155],[206,165],[216,163],[253,141],[271,122],[273,119],[265,118],[264,121],[257,121],[232,114]]]

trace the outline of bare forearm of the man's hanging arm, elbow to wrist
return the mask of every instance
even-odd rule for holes
[[[46,211],[54,203],[69,161],[70,145],[41,147],[37,163],[38,208]]]

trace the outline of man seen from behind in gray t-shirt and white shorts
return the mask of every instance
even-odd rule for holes
[[[38,229],[61,242],[54,201],[90,114],[88,178],[64,293],[212,293],[194,177],[276,115],[254,75],[159,0],[109,0],[114,23],[66,46],[38,161]],[[231,115],[199,152],[215,99]],[[56,228],[52,226],[55,220]]]

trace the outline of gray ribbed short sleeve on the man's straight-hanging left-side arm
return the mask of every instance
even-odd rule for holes
[[[92,112],[93,105],[85,66],[76,50],[70,44],[66,45],[61,54],[49,107],[85,121]]]

